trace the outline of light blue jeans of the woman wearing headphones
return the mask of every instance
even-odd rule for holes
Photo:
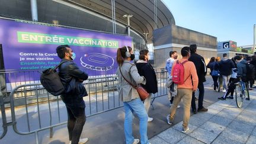
[[[124,135],[126,137],[126,143],[131,144],[134,141],[134,137],[132,136],[132,123],[133,123],[133,111],[139,117],[140,125],[140,143],[148,144],[148,114],[146,113],[145,107],[140,100],[140,98],[136,98],[132,101],[123,102],[124,104]]]

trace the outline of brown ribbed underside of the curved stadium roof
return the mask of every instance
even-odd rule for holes
[[[111,0],[66,0],[65,2],[84,7],[89,11],[112,19]],[[124,18],[123,15],[133,15],[130,18],[130,27],[132,27],[132,30],[137,31],[141,36],[143,36],[143,33],[148,33],[148,41],[150,42],[152,40],[152,32],[155,29],[154,0],[115,0],[115,6],[117,23],[126,25],[127,18]],[[174,17],[164,2],[157,0],[156,7],[158,17],[157,28],[175,24]]]

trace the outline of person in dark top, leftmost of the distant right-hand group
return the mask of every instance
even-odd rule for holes
[[[215,57],[211,57],[210,59],[210,62],[208,63],[207,65],[207,68],[210,68],[211,72],[213,70],[215,71],[219,71],[219,63],[218,62],[215,62]],[[219,85],[217,84],[217,79],[219,78],[219,76],[216,76],[216,75],[212,75],[212,78],[213,78],[213,82],[214,82],[214,87],[213,89],[216,91],[216,88],[219,87]]]

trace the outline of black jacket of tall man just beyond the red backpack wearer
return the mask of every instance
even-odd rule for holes
[[[199,78],[199,82],[205,82],[206,81],[205,76],[206,76],[206,73],[207,73],[207,68],[206,68],[204,58],[202,56],[198,55],[197,53],[191,53],[191,56],[188,60],[193,62],[194,65],[196,66],[197,76]]]

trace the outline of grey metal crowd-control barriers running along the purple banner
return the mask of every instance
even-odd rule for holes
[[[167,72],[156,72],[156,78],[158,92],[152,95],[152,103],[155,98],[168,92],[165,87]],[[206,84],[212,82],[210,75],[206,79]],[[116,88],[117,82],[117,76],[89,78],[84,82],[88,92],[88,97],[84,97],[88,117],[123,107]],[[39,143],[40,131],[49,129],[52,137],[54,127],[67,123],[66,107],[61,98],[50,95],[39,83],[17,85],[11,89],[8,97],[0,93],[0,105],[3,127],[1,139],[7,133],[8,126],[12,126],[14,132],[20,135],[34,133],[36,143]]]

